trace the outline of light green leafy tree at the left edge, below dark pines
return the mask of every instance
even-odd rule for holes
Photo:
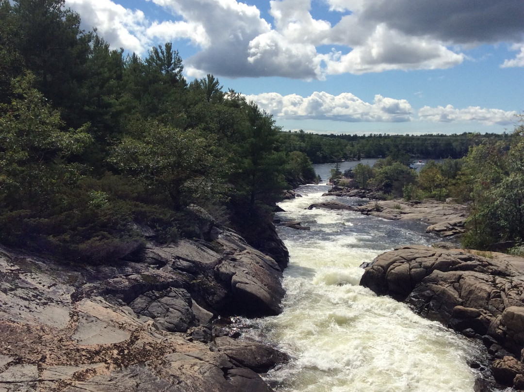
[[[0,200],[7,209],[50,208],[63,187],[81,176],[82,167],[66,159],[92,139],[80,129],[63,130],[58,111],[32,87],[26,75],[13,83],[16,99],[0,105]]]

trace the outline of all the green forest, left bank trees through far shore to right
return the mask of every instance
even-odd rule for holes
[[[198,222],[210,217],[256,241],[283,191],[315,180],[312,163],[360,157],[388,157],[362,180],[389,197],[472,203],[468,244],[524,239],[522,125],[485,136],[282,132],[213,75],[185,80],[170,42],[126,54],[82,30],[63,0],[1,0],[0,21],[3,244],[104,263],[139,251],[145,228],[159,242],[205,239]],[[466,157],[417,177],[413,156]]]

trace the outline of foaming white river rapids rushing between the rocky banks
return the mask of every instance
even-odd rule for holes
[[[318,168],[321,176],[329,166]],[[325,179],[325,177],[324,177]],[[282,220],[311,227],[279,227],[290,252],[283,313],[256,320],[252,333],[292,357],[267,379],[278,392],[473,391],[467,359],[479,355],[471,341],[414,314],[405,304],[359,286],[377,255],[402,244],[430,244],[424,225],[386,221],[351,211],[306,208],[325,185],[304,186],[302,198],[280,204]],[[363,203],[358,199],[337,201]]]

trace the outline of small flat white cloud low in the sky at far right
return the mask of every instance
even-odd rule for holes
[[[488,109],[479,106],[455,109],[452,105],[447,105],[445,107],[424,106],[419,110],[418,114],[422,120],[438,123],[475,121],[485,125],[510,125],[514,121],[517,112],[506,112],[500,109]]]

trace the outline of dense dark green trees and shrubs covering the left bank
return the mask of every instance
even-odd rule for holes
[[[63,5],[0,0],[2,243],[129,259],[144,233],[269,222],[283,189],[314,178],[303,152],[279,149],[270,115],[211,74],[188,85],[170,42],[124,58]]]

